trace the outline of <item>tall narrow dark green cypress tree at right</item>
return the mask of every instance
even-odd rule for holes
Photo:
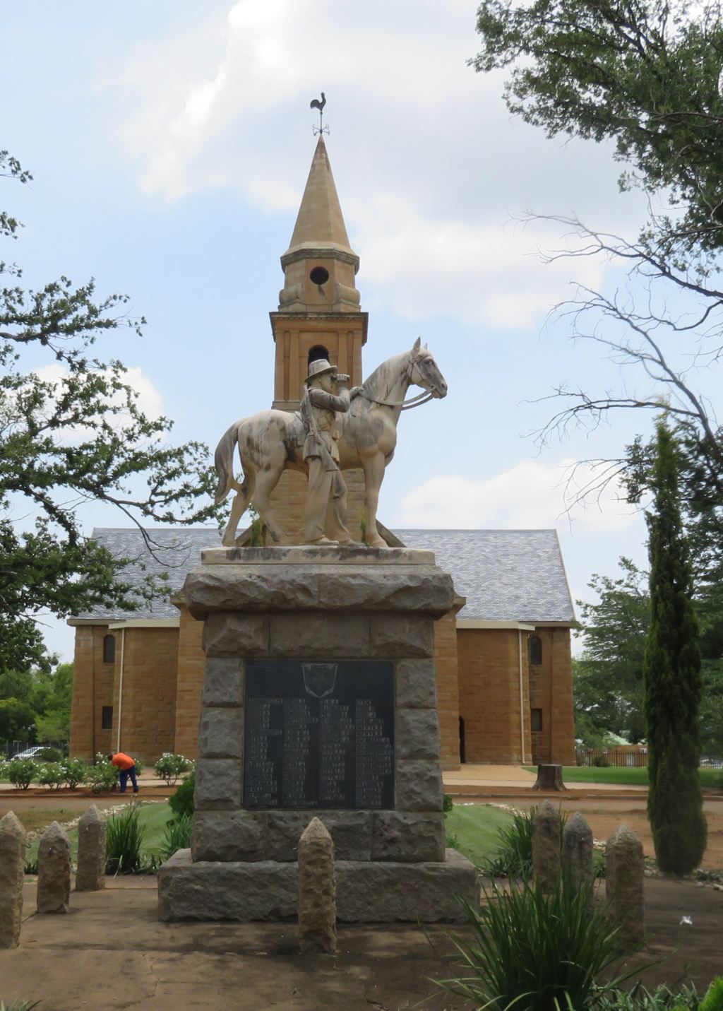
[[[646,516],[651,606],[643,665],[647,813],[658,866],[684,875],[700,864],[707,827],[698,779],[701,652],[678,476],[674,436],[658,422],[653,508]]]

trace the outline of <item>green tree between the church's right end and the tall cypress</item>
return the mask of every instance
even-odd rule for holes
[[[617,579],[593,575],[589,585],[597,603],[577,602],[584,650],[574,670],[576,726],[585,716],[581,729],[612,731],[637,744],[645,737],[642,667],[650,600],[646,574],[628,558],[620,567]]]

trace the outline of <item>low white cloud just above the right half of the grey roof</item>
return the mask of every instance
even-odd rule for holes
[[[622,500],[611,481],[587,508],[565,513],[570,492],[594,480],[599,470],[575,460],[546,466],[523,460],[495,477],[475,480],[458,474],[433,477],[402,500],[397,525],[439,529],[500,528],[526,530],[567,527],[581,532],[620,531],[636,522],[637,513]],[[573,475],[575,487],[567,487]]]

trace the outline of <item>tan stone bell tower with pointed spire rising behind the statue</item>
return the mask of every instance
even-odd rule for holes
[[[368,313],[359,307],[359,259],[349,246],[323,134],[319,134],[271,312],[276,344],[273,406],[296,410],[309,362],[328,358],[349,385],[362,382]]]

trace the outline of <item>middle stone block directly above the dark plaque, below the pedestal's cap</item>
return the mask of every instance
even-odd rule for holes
[[[342,660],[368,657],[369,618],[364,615],[272,615],[273,656]]]

